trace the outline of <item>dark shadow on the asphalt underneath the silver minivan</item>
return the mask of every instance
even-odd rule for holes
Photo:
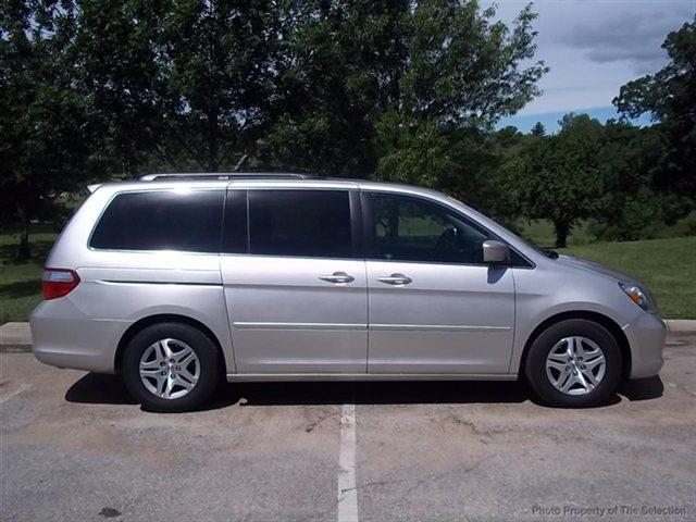
[[[656,399],[664,386],[659,376],[621,384],[601,406]],[[65,393],[65,400],[89,405],[135,405],[120,377],[88,373]],[[239,403],[254,406],[322,405],[467,405],[521,403],[543,406],[523,382],[401,381],[401,382],[296,382],[225,383],[199,411]]]

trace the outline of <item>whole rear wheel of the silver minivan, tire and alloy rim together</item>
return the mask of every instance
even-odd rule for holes
[[[123,378],[146,409],[187,411],[215,389],[221,363],[217,347],[198,328],[160,323],[133,337],[124,355]]]

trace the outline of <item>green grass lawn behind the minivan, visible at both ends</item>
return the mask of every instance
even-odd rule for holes
[[[536,224],[532,234],[540,245],[549,245],[550,228]],[[583,245],[587,236],[582,229],[563,252],[616,268],[643,282],[658,301],[660,313],[668,319],[696,319],[696,236],[626,243]],[[16,236],[0,235],[0,324],[26,321],[41,300],[39,278],[54,234],[42,232],[32,236],[34,259],[16,263]],[[572,238],[571,238],[572,239]]]

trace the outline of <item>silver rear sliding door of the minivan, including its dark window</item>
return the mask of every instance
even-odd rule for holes
[[[233,184],[221,257],[239,373],[364,373],[357,187]]]

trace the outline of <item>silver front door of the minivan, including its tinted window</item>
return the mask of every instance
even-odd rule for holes
[[[506,373],[509,266],[483,263],[487,231],[435,201],[363,194],[370,373]]]

